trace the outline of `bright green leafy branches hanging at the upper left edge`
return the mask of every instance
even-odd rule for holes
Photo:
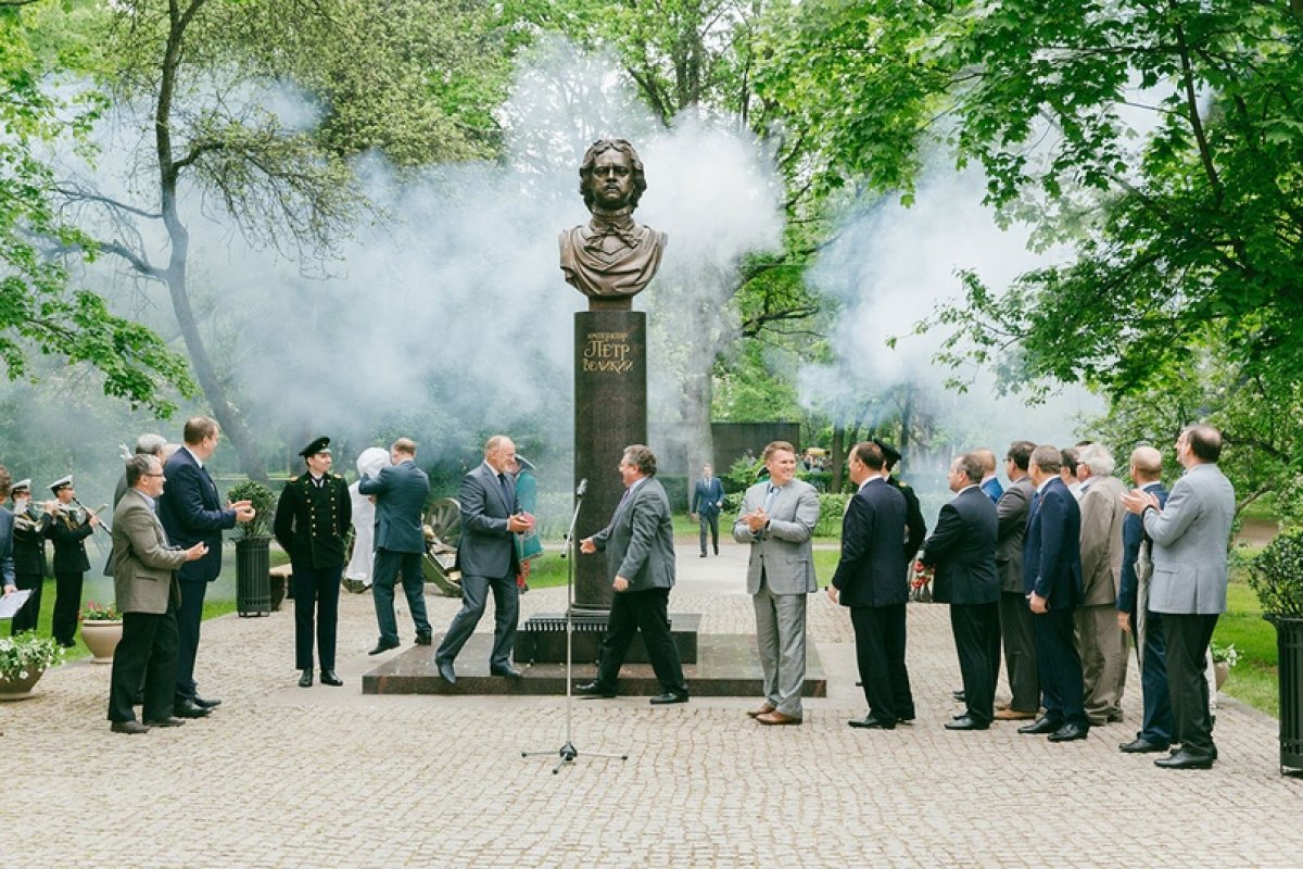
[[[57,211],[40,154],[83,145],[100,103],[60,99],[43,85],[70,57],[43,39],[42,12],[0,4],[0,363],[16,380],[36,374],[33,353],[65,357],[98,369],[106,395],[167,416],[169,396],[194,390],[184,358],[74,279],[77,251],[93,258],[95,248]]]

